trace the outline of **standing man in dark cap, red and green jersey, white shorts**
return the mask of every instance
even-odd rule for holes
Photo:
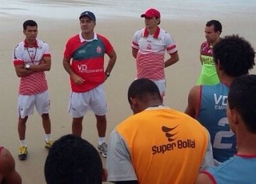
[[[106,97],[103,82],[110,77],[117,55],[109,40],[94,32],[96,18],[92,12],[83,12],[79,20],[81,32],[66,42],[63,58],[72,89],[69,107],[73,117],[72,133],[81,137],[83,116],[88,110],[93,110],[97,120],[98,150],[106,157]],[[105,54],[110,58],[106,70]]]

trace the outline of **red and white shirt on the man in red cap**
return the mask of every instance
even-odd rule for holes
[[[178,51],[170,34],[158,27],[156,33],[150,35],[146,28],[143,28],[135,32],[131,46],[138,49],[136,58],[137,78],[165,79],[165,51],[168,54]]]

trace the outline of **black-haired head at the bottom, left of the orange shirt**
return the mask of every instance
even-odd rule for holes
[[[72,134],[59,138],[45,163],[47,184],[102,184],[102,160],[89,142]]]

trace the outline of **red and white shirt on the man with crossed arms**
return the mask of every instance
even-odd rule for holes
[[[14,48],[14,66],[26,64],[38,65],[45,56],[50,56],[50,48],[46,42],[37,40],[34,46],[29,47],[26,41],[23,41]],[[48,90],[48,86],[46,75],[43,71],[34,72],[20,79],[19,94],[41,94],[46,90]]]

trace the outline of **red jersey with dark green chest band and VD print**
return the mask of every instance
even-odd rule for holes
[[[100,34],[94,33],[94,38],[90,41],[83,39],[81,33],[68,40],[64,57],[73,58],[71,67],[74,73],[85,80],[82,85],[76,85],[70,78],[73,92],[83,93],[104,82],[104,54],[112,51],[113,46],[109,40]]]

